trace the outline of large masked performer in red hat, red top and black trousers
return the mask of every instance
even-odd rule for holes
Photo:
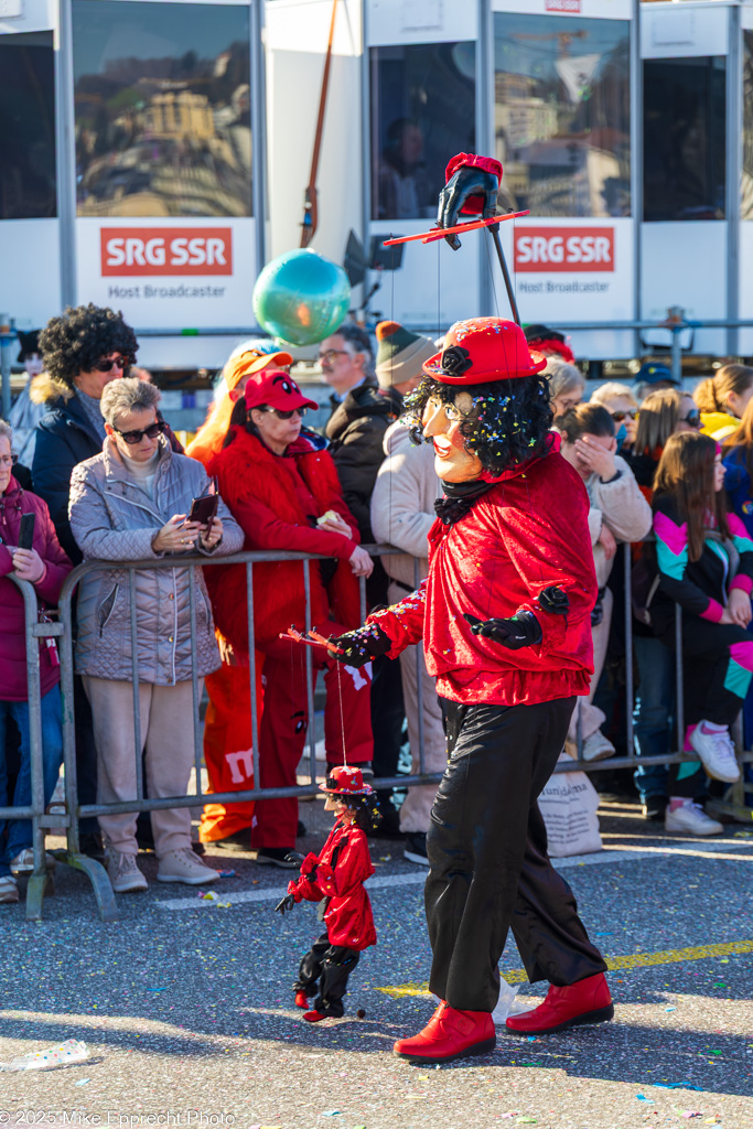
[[[423,366],[409,413],[434,443],[445,498],[429,575],[364,628],[341,662],[396,658],[423,640],[443,701],[449,761],[427,835],[429,987],[441,1000],[404,1058],[491,1050],[498,963],[509,929],[545,1001],[508,1018],[525,1034],[612,1017],[604,971],[575,898],[546,854],[536,799],[593,671],[596,598],[588,498],[559,454],[543,358],[496,317],[455,324]],[[335,654],[331,651],[331,654]]]

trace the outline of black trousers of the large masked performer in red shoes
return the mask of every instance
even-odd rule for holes
[[[563,987],[604,972],[569,885],[546,854],[536,799],[562,751],[575,698],[535,706],[444,701],[448,764],[427,835],[429,987],[492,1012],[511,928],[528,979]]]

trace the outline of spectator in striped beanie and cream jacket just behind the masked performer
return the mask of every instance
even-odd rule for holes
[[[434,341],[411,333],[397,322],[380,322],[376,327],[376,374],[380,387],[392,387],[401,396],[414,392],[423,379],[423,364],[436,352]],[[441,497],[441,485],[434,469],[434,450],[427,444],[411,441],[409,430],[397,420],[387,428],[384,437],[386,458],[379,467],[371,495],[371,526],[379,542],[402,549],[400,555],[384,557],[383,564],[389,578],[387,599],[396,604],[415,587],[415,566],[419,579],[428,571],[429,544],[427,536],[435,522],[434,505]],[[423,768],[427,772],[441,772],[447,763],[441,709],[435,680],[429,675],[415,647],[400,656],[403,700],[408,718],[408,739],[412,769],[417,774],[419,758],[419,697],[421,680],[423,716]],[[377,659],[384,663],[385,659]],[[388,660],[387,660],[388,662]],[[396,664],[389,664],[396,665]],[[375,752],[375,758],[378,754]],[[415,785],[408,790],[400,809],[400,830],[405,835],[404,858],[419,866],[428,866],[426,837],[429,830],[431,805],[436,785]]]

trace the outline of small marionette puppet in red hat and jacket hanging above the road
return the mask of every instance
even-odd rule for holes
[[[300,962],[292,986],[297,1007],[308,1008],[316,997],[304,1014],[308,1023],[343,1014],[348,978],[364,949],[376,945],[371,903],[364,889],[374,874],[366,834],[379,819],[374,788],[364,784],[360,769],[348,765],[333,768],[319,788],[327,795],[324,809],[335,813],[334,828],[318,856],[306,856],[300,877],[288,883],[287,895],[274,907],[284,916],[304,900],[324,903],[324,933]]]

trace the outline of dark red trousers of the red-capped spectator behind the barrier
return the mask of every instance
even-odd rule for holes
[[[322,634],[343,634],[348,629],[327,622]],[[282,788],[296,784],[308,728],[306,701],[306,654],[300,644],[277,639],[260,648],[264,654],[264,714],[259,734],[259,771],[262,788]],[[349,764],[370,762],[371,668],[343,666],[329,658],[324,649],[310,648],[314,671],[324,671],[326,704],[324,745],[329,764],[343,763],[343,734]],[[264,799],[256,805],[252,844],[289,847],[296,844],[298,800]]]

